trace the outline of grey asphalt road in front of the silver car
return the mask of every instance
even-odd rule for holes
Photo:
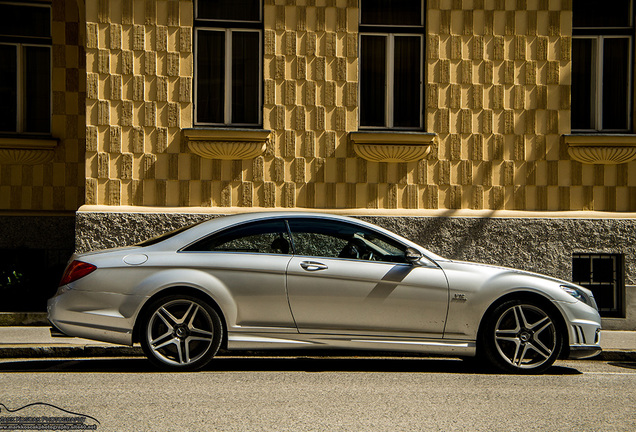
[[[429,358],[225,357],[181,374],[140,358],[0,361],[0,422],[59,415],[6,410],[40,402],[100,431],[631,431],[634,401],[636,363],[519,376]]]

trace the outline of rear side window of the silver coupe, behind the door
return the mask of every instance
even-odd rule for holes
[[[184,249],[188,252],[291,253],[289,234],[282,220],[266,220],[229,228]]]

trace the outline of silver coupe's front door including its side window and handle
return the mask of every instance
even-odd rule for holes
[[[410,264],[403,244],[353,223],[288,223],[287,290],[300,333],[442,337],[448,283],[433,262]]]

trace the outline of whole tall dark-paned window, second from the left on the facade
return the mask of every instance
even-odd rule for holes
[[[195,2],[195,124],[259,126],[260,0]]]

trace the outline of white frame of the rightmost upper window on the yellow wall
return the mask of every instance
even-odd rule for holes
[[[594,94],[590,94],[590,98],[593,98],[590,106],[594,110],[592,113],[593,128],[591,129],[573,129],[573,132],[628,132],[631,130],[632,123],[632,81],[633,81],[633,65],[632,65],[632,44],[633,37],[631,35],[581,35],[572,36],[572,39],[588,39],[595,41],[595,50],[592,53],[592,70],[593,70],[593,86],[596,90]],[[627,128],[624,129],[606,129],[603,126],[603,49],[605,39],[627,39],[628,40],[628,70],[627,76],[629,77],[627,88],[625,89],[625,98],[627,100],[627,112],[626,124]]]

